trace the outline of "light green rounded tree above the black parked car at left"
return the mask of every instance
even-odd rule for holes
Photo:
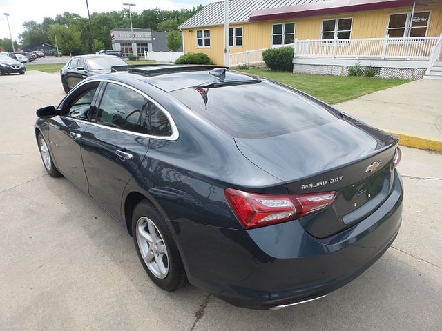
[[[74,26],[68,28],[56,23],[48,29],[48,37],[52,43],[55,43],[55,34],[62,53],[69,53],[70,56],[73,53],[79,53],[81,50],[81,33]]]

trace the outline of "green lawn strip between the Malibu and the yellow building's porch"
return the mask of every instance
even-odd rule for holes
[[[330,104],[356,99],[361,95],[407,83],[405,79],[293,74],[268,69],[238,70],[287,84]]]

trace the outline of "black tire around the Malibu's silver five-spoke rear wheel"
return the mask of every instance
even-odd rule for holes
[[[149,269],[146,262],[144,261],[142,252],[140,251],[140,245],[138,243],[138,237],[140,237],[140,234],[138,234],[139,232],[137,232],[137,223],[139,223],[140,221],[140,226],[142,226],[142,219],[148,219],[155,225],[155,228],[158,231],[157,234],[160,234],[160,236],[158,236],[158,238],[160,239],[160,243],[164,243],[164,245],[166,246],[166,258],[168,260],[167,265],[169,267],[169,271],[164,278],[157,277]],[[142,263],[144,270],[146,270],[148,277],[153,281],[153,283],[155,283],[163,290],[169,292],[173,292],[175,290],[178,290],[179,288],[182,288],[182,286],[187,282],[187,277],[184,270],[184,265],[182,264],[180,253],[178,252],[177,245],[172,237],[171,232],[169,231],[169,228],[167,228],[164,217],[162,217],[160,212],[158,212],[158,210],[147,200],[143,200],[135,206],[135,210],[133,211],[132,216],[132,234],[133,241],[135,243],[135,249],[137,250],[140,262]],[[154,259],[155,258],[153,258],[153,260]]]

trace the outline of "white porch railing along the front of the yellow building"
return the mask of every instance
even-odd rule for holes
[[[332,59],[430,59],[440,37],[307,39],[295,40],[295,57]],[[281,47],[281,46],[280,46]],[[442,47],[442,46],[441,46]],[[230,65],[253,64],[262,61],[262,51],[249,50],[230,54]],[[439,49],[439,53],[441,49]],[[439,54],[438,53],[438,54]],[[439,55],[438,55],[439,56]]]

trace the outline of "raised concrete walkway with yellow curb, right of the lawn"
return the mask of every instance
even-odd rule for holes
[[[335,106],[376,128],[442,144],[442,81],[412,81]]]

